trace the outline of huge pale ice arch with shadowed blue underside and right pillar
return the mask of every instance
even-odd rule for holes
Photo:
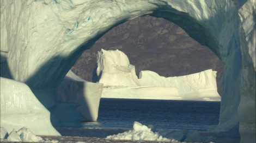
[[[82,51],[116,25],[147,15],[174,22],[220,57],[221,113],[212,130],[239,131],[241,142],[255,142],[254,0],[1,0],[1,76],[26,83],[50,108],[54,88]]]

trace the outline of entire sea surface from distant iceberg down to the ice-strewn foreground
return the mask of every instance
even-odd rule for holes
[[[56,129],[63,135],[62,137],[41,136],[41,138],[44,142],[159,142],[105,138],[108,135],[131,130],[134,121],[143,125],[153,125],[156,129],[195,129],[203,133],[210,126],[218,124],[220,103],[102,98],[97,122],[82,122],[81,127],[77,128],[59,127]],[[239,142],[239,139],[224,139],[224,142]]]

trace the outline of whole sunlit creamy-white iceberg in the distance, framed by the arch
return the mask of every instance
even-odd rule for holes
[[[216,72],[212,70],[178,77],[163,77],[147,70],[141,71],[138,79],[135,66],[122,51],[101,49],[96,71],[98,82],[104,85],[102,98],[221,100]]]

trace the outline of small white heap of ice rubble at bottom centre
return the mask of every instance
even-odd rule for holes
[[[173,141],[178,142],[176,140],[170,140],[167,138],[163,138],[159,133],[154,133],[154,126],[150,125],[147,127],[142,125],[139,122],[133,123],[133,130],[127,131],[124,133],[119,133],[117,135],[109,135],[106,139],[109,140],[150,140],[150,141]]]

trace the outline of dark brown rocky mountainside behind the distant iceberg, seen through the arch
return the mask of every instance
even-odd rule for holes
[[[82,79],[93,81],[96,54],[101,49],[123,51],[135,66],[137,75],[141,70],[151,70],[165,77],[215,70],[221,94],[223,62],[208,47],[163,18],[139,17],[114,27],[91,49],[84,51],[71,70]]]

